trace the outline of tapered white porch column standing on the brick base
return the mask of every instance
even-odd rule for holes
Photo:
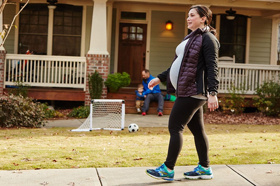
[[[107,51],[107,0],[94,0],[90,47],[87,54],[109,55]]]

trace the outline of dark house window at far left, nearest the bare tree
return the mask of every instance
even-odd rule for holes
[[[19,17],[19,54],[27,50],[47,54],[48,16],[46,4],[27,4],[23,9]]]

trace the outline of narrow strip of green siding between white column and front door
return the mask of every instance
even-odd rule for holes
[[[115,41],[116,41],[116,20],[117,20],[117,9],[113,8],[113,12],[112,12],[112,33],[111,33],[111,53],[110,53],[110,69],[109,69],[109,73],[114,72]]]

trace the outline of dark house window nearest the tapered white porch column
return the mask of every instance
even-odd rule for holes
[[[53,55],[80,56],[82,6],[59,5],[54,10]]]

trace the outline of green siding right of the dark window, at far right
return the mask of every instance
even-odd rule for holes
[[[252,17],[250,33],[250,64],[270,64],[272,20]]]

